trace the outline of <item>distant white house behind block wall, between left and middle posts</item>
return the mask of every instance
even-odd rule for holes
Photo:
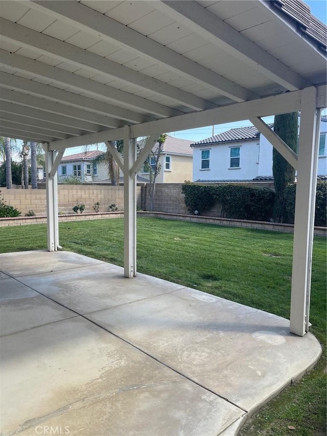
[[[63,156],[58,167],[59,182],[65,177],[77,177],[83,183],[107,179],[105,165],[94,163],[99,154],[103,152],[94,150]]]

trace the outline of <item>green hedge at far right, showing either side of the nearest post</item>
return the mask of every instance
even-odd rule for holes
[[[296,183],[289,185],[284,191],[285,222],[294,223]],[[327,182],[318,181],[316,190],[315,225],[325,227],[327,224]]]

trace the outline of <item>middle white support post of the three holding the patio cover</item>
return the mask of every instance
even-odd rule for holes
[[[124,276],[136,276],[136,177],[130,174],[136,160],[136,138],[124,127]]]

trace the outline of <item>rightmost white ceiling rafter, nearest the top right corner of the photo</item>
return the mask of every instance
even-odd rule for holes
[[[294,91],[311,86],[305,78],[250,41],[211,11],[195,1],[163,0],[155,3],[180,24],[193,29],[206,40],[219,45],[237,59],[244,61],[269,79]]]

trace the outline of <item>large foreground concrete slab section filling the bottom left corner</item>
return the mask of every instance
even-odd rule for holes
[[[82,317],[2,339],[2,434],[218,434],[244,411]]]

